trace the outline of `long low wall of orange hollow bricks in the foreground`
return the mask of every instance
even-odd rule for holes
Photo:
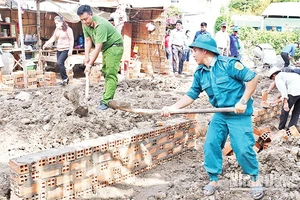
[[[11,199],[76,199],[194,147],[194,120],[118,133],[10,160]]]

